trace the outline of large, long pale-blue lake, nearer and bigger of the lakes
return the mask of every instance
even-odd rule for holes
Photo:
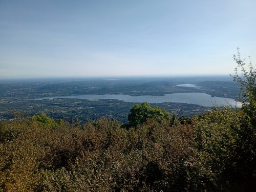
[[[68,99],[88,99],[88,100],[101,100],[101,99],[117,99],[125,102],[148,102],[148,103],[163,103],[163,102],[179,102],[188,104],[198,104],[201,106],[221,106],[221,105],[231,105],[232,107],[237,106],[241,108],[242,104],[235,101],[234,99],[225,97],[211,97],[206,93],[173,93],[166,94],[162,96],[153,95],[142,95],[142,96],[130,96],[130,95],[70,95],[70,96],[56,96],[56,97],[42,97],[34,100],[43,99],[58,99],[58,98],[68,98]]]

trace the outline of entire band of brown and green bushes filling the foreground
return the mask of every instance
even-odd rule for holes
[[[44,117],[44,116],[41,116]],[[48,118],[43,118],[48,119]],[[183,121],[182,121],[183,122]],[[0,125],[4,191],[218,191],[253,189],[255,136],[240,110],[188,123],[149,119],[123,129],[40,118]]]

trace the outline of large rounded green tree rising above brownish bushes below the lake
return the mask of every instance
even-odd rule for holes
[[[170,121],[170,114],[159,108],[159,106],[150,106],[147,102],[141,104],[135,104],[130,110],[128,115],[129,126],[138,127],[146,122],[147,119],[154,119],[161,123],[163,121]]]

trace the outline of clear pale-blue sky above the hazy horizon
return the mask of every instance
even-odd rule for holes
[[[0,78],[228,75],[255,0],[0,0]]]

